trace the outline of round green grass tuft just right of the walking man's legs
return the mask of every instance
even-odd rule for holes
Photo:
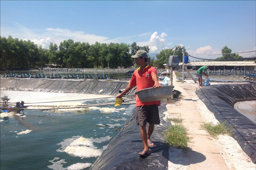
[[[186,128],[182,124],[169,126],[163,132],[163,135],[165,136],[166,144],[169,146],[175,146],[183,150],[188,148],[190,139],[187,136]]]

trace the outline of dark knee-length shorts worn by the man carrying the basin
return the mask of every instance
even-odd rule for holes
[[[136,107],[136,124],[143,126],[149,124],[160,125],[158,105],[145,105]]]

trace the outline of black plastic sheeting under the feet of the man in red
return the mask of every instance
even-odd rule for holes
[[[161,132],[168,122],[163,120],[163,112],[167,111],[165,103],[159,107],[160,125],[155,125],[151,141],[155,147],[150,147],[151,155],[143,158],[139,153],[144,146],[140,136],[140,126],[136,125],[135,108],[131,118],[119,134],[108,144],[106,150],[94,162],[90,170],[166,170],[168,169],[169,150],[164,143]]]

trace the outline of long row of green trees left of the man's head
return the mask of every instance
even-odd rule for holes
[[[49,49],[30,40],[13,39],[12,36],[1,37],[1,68],[37,68],[46,64],[61,65],[63,68],[128,68],[134,65],[131,58],[137,50],[149,52],[148,45],[139,46],[136,42],[125,43],[74,42],[72,39],[60,42],[60,45],[50,42]],[[148,58],[153,65],[154,59]]]

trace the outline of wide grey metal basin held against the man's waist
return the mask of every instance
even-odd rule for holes
[[[172,97],[172,88],[174,88],[173,85],[166,85],[161,88],[145,88],[135,94],[142,102],[154,102]]]

